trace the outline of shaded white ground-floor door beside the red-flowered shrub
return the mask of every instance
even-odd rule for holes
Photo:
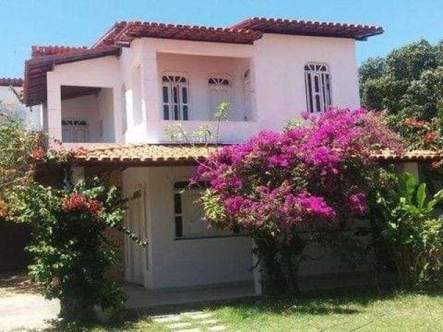
[[[130,199],[126,212],[126,227],[136,237],[145,239],[147,236],[145,223],[144,187],[136,185],[127,194]],[[145,284],[145,270],[147,269],[147,250],[132,239],[125,238],[125,279],[134,284]]]

